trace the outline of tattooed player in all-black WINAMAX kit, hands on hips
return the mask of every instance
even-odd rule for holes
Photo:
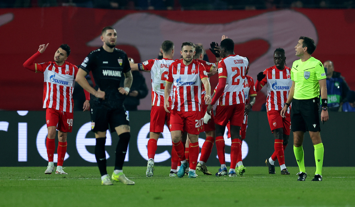
[[[127,54],[115,48],[117,33],[112,27],[105,27],[101,32],[103,46],[88,54],[78,71],[77,82],[95,96],[91,100],[91,129],[95,133],[95,158],[101,173],[101,184],[112,185],[106,169],[105,142],[109,126],[116,131],[119,141],[116,147],[115,170],[111,178],[126,185],[135,182],[126,178],[122,171],[131,137],[129,118],[123,105],[132,85],[132,73]],[[92,71],[95,89],[83,81]],[[122,73],[125,75],[124,87],[120,87]]]

